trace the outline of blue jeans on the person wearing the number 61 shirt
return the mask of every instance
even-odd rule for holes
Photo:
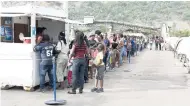
[[[48,73],[50,86],[53,88],[53,65],[40,64],[40,89],[45,87],[45,76]]]

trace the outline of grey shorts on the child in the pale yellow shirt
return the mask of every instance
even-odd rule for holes
[[[97,80],[103,80],[104,79],[104,71],[105,71],[105,66],[98,67],[96,70],[95,78]]]

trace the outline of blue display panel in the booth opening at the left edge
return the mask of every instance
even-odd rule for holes
[[[2,17],[0,25],[1,42],[13,42],[13,27],[11,17]]]

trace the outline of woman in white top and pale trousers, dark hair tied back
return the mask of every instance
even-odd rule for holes
[[[57,57],[57,71],[56,71],[56,75],[57,75],[57,82],[60,83],[59,87],[64,89],[64,78],[66,79],[67,76],[67,63],[68,63],[68,46],[67,46],[67,42],[65,39],[65,33],[64,32],[60,32],[59,36],[58,36],[58,43],[57,43],[57,47],[56,50],[59,51],[58,57]]]

